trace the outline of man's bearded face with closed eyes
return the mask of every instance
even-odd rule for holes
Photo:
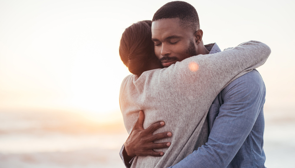
[[[164,67],[197,55],[194,32],[181,27],[179,18],[153,21],[152,40],[155,54]]]

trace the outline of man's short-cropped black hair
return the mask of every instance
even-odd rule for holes
[[[183,27],[189,27],[194,31],[200,29],[198,13],[194,6],[187,2],[168,2],[156,11],[153,16],[153,21],[172,18],[179,18]]]

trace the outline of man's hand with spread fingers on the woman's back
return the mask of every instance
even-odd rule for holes
[[[155,152],[153,149],[167,148],[171,145],[170,142],[153,143],[158,139],[171,137],[171,132],[163,132],[159,134],[152,134],[156,129],[163,127],[164,122],[156,122],[147,129],[143,129],[142,124],[145,119],[143,111],[140,110],[139,117],[135,123],[129,137],[127,138],[124,146],[129,157],[137,156],[163,156],[163,152]]]

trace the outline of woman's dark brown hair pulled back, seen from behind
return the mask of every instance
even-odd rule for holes
[[[127,27],[122,34],[119,55],[132,74],[140,76],[149,70],[150,60],[155,59],[152,41],[152,21],[139,21]]]

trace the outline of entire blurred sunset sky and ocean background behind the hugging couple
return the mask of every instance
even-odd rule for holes
[[[128,137],[119,89],[124,29],[169,1],[0,0],[0,168],[124,167]],[[295,167],[295,2],[187,1],[220,49],[271,47],[266,85],[266,167]]]

